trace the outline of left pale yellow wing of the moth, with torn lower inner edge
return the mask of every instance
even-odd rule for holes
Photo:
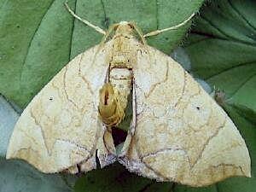
[[[108,71],[108,44],[86,50],[32,99],[9,141],[7,158],[41,172],[86,172],[115,159],[112,136],[98,117],[99,90]]]

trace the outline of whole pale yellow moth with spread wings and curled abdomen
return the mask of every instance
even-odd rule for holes
[[[67,9],[104,40],[77,55],[32,99],[15,125],[7,159],[46,173],[88,172],[96,158],[101,167],[119,160],[130,172],[191,186],[251,176],[246,143],[229,116],[183,67],[146,43],[193,15],[143,35],[127,21],[105,32]],[[124,118],[129,95],[131,127],[117,154],[111,127]]]

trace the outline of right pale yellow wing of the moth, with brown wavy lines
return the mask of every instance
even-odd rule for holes
[[[136,129],[125,141],[122,164],[192,186],[250,177],[249,153],[236,125],[183,67],[148,47],[138,52],[133,71]]]

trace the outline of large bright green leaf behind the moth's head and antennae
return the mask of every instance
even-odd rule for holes
[[[0,93],[21,108],[71,58],[102,39],[102,34],[73,19],[63,5],[65,1],[9,0],[1,3]],[[103,29],[121,20],[134,20],[143,32],[150,32],[177,25],[196,12],[202,2],[70,0],[68,4],[82,18]],[[189,25],[185,25],[148,38],[148,44],[170,52],[188,28]]]

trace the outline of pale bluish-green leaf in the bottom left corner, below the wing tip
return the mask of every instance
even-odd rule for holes
[[[71,192],[74,177],[46,175],[18,160],[0,159],[0,191],[10,192]]]

